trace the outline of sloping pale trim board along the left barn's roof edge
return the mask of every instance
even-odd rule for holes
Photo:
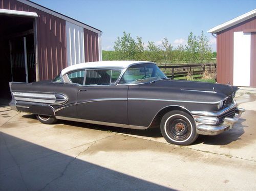
[[[53,15],[53,16],[59,17],[59,18],[61,18],[61,19],[63,19],[63,20],[69,21],[69,22],[71,22],[71,23],[73,23],[73,24],[75,24],[75,25],[77,25],[77,26],[79,26],[79,27],[88,29],[88,30],[90,30],[90,31],[92,31],[92,32],[95,32],[95,33],[100,33],[100,32],[101,32],[101,31],[99,31],[99,30],[97,30],[97,29],[95,29],[95,28],[92,28],[92,27],[90,27],[90,26],[84,24],[84,23],[81,23],[81,22],[79,22],[79,21],[77,21],[77,20],[74,20],[74,19],[68,17],[68,16],[62,15],[62,14],[60,14],[60,13],[57,13],[57,12],[55,12],[55,11],[52,11],[52,10],[50,10],[50,9],[47,9],[47,8],[45,8],[45,7],[42,7],[42,6],[37,5],[37,4],[35,4],[35,3],[29,2],[29,1],[26,1],[26,0],[17,0],[17,1],[20,2],[20,3],[24,3],[24,4],[26,4],[26,5],[29,5],[29,6],[31,6],[31,7],[34,7],[34,8],[36,8],[36,9],[39,9],[39,10],[41,10],[41,11],[44,11],[44,12],[46,12],[46,13],[49,13],[49,14],[51,14],[51,15]]]

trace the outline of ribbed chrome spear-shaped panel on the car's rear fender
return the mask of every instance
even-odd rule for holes
[[[17,101],[37,102],[53,105],[63,104],[68,101],[67,97],[61,93],[14,91],[13,96]]]

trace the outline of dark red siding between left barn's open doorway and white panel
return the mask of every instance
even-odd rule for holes
[[[65,20],[15,0],[0,0],[0,8],[37,13],[39,80],[53,79],[67,67]]]

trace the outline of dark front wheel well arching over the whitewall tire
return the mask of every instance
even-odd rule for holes
[[[180,111],[184,111],[186,113],[188,113],[189,115],[190,112],[185,109],[184,107],[181,106],[167,106],[163,109],[161,109],[156,116],[154,117],[154,120],[152,121],[151,125],[149,128],[154,128],[154,127],[160,127],[160,123],[161,123],[161,118],[163,117],[163,115],[169,111],[173,111],[173,110],[180,110]],[[192,116],[192,115],[191,115]]]

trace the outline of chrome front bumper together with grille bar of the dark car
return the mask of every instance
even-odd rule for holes
[[[198,115],[199,112],[197,111],[192,111],[191,113],[193,114],[196,121],[197,133],[201,135],[218,135],[228,129],[232,129],[233,124],[238,122],[239,117],[245,111],[244,109],[238,108],[236,106],[237,104],[234,103],[222,111],[205,113],[201,112],[201,115]],[[232,109],[235,109],[234,117],[225,117],[222,120],[223,122],[219,124],[218,116],[228,113]]]

